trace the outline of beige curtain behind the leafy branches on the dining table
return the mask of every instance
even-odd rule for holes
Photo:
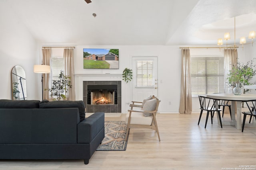
[[[224,92],[225,93],[232,93],[234,87],[228,86],[227,76],[228,72],[232,69],[233,66],[237,65],[237,49],[225,49],[224,50]]]

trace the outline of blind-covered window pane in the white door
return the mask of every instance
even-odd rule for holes
[[[136,63],[136,87],[154,87],[153,61],[137,61]]]

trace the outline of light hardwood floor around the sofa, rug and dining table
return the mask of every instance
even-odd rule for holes
[[[216,115],[204,129],[205,116],[198,126],[197,113],[160,113],[160,142],[155,131],[131,129],[126,151],[96,151],[87,165],[83,160],[0,160],[0,170],[223,170],[256,165],[256,128],[249,119],[242,133],[234,126],[219,127]],[[124,119],[124,114],[105,118]]]

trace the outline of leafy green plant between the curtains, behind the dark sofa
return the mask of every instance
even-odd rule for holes
[[[66,98],[65,94],[68,92],[68,87],[72,87],[72,85],[70,85],[69,79],[70,77],[65,76],[63,70],[61,70],[58,80],[52,80],[52,88],[46,90],[49,90],[49,92],[51,92],[51,97],[57,97],[57,99],[54,100],[61,100],[61,98]]]

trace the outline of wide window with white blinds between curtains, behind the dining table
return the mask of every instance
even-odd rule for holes
[[[192,96],[224,93],[224,57],[191,56]]]

